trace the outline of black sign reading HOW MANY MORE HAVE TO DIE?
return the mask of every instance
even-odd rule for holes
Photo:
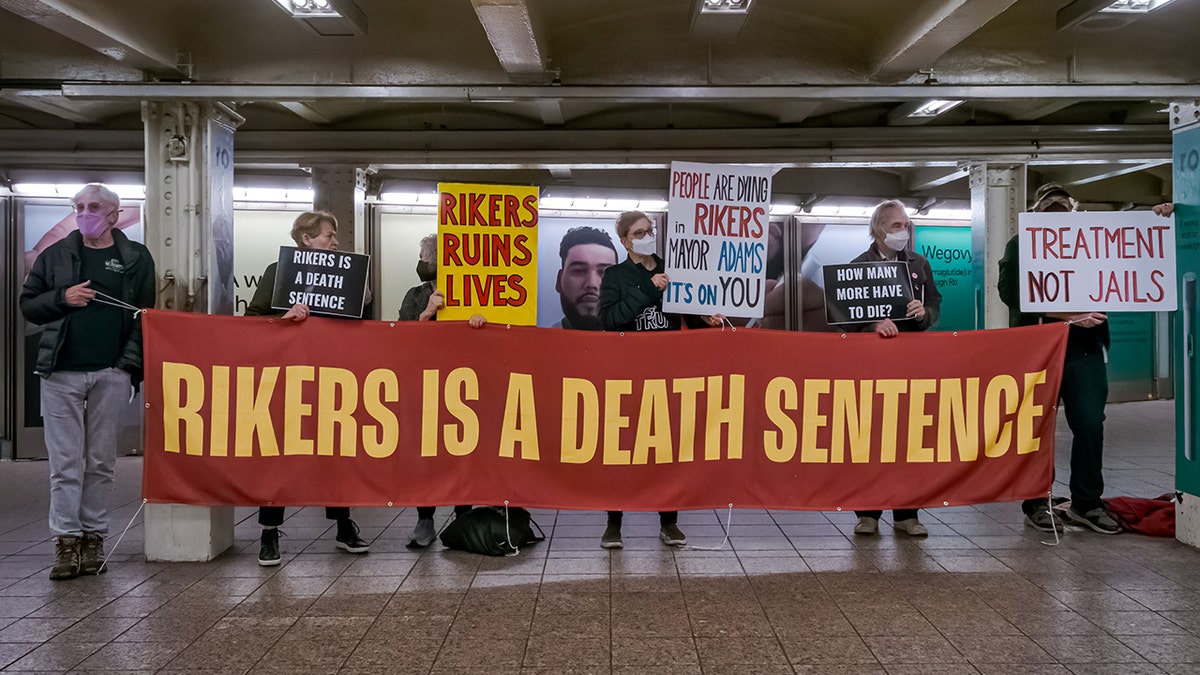
[[[847,263],[823,265],[826,321],[866,323],[906,318],[912,301],[908,263]]]

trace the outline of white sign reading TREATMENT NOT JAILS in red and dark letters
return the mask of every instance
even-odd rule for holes
[[[1021,311],[1174,311],[1175,221],[1152,211],[1020,215]]]

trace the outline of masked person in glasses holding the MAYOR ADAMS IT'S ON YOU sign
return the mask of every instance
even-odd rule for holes
[[[605,330],[679,330],[684,321],[697,325],[720,325],[725,317],[683,318],[662,312],[662,292],[668,279],[662,258],[658,255],[654,223],[642,211],[625,211],[617,216],[617,238],[628,253],[625,262],[605,269],[600,282],[600,325]],[[688,538],[679,530],[679,512],[659,512],[659,539],[668,546],[683,546]],[[619,549],[622,512],[608,512],[608,526],[600,537],[600,546]]]

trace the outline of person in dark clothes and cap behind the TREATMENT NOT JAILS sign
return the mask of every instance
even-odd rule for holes
[[[1078,207],[1070,192],[1057,183],[1038,187],[1031,211],[1069,213]],[[1008,305],[1009,325],[1031,325],[1046,319],[1066,321],[1067,354],[1062,366],[1058,398],[1070,428],[1070,507],[1064,518],[1103,534],[1116,534],[1121,526],[1104,508],[1104,405],[1109,398],[1109,322],[1103,312],[1027,313],[1021,310],[1020,249],[1014,235],[1004,246],[996,287]],[[1050,510],[1049,497],[1021,503],[1025,524],[1043,532],[1062,532],[1063,524]]]

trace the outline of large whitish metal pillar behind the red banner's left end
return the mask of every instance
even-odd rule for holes
[[[157,306],[232,315],[233,135],[244,120],[222,103],[149,101],[142,121]],[[146,504],[146,558],[211,560],[233,545],[233,507]]]

